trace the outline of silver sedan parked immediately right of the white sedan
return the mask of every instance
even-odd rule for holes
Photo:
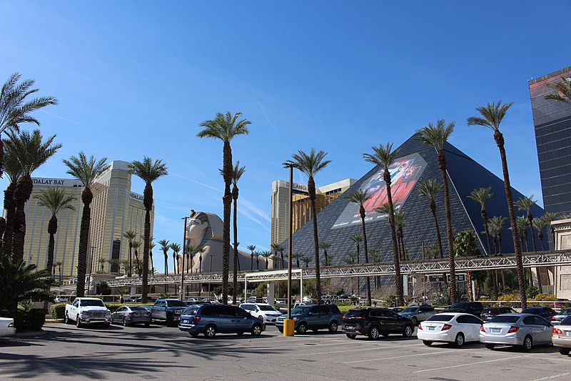
[[[496,345],[517,345],[529,351],[533,345],[551,344],[551,328],[550,322],[537,315],[497,315],[480,328],[480,342],[489,350]]]

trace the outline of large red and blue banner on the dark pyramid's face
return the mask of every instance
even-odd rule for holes
[[[426,167],[426,162],[420,154],[414,153],[405,157],[399,157],[395,163],[389,167],[390,172],[390,190],[393,194],[393,204],[395,207],[403,205],[412,192],[415,184],[420,179]],[[383,180],[383,169],[375,172],[373,176],[365,179],[360,189],[366,190],[370,194],[363,206],[365,207],[365,223],[375,222],[386,217],[386,214],[375,212],[375,209],[388,202],[387,188],[385,180]],[[343,197],[343,196],[342,196]],[[353,224],[360,224],[359,206],[350,202],[340,214],[331,229],[340,227],[348,227]]]

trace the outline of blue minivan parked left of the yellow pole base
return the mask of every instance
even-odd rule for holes
[[[257,317],[253,317],[240,307],[231,305],[195,305],[188,307],[181,315],[178,329],[188,332],[192,337],[201,333],[204,337],[214,337],[217,333],[250,332],[259,336],[266,326]]]

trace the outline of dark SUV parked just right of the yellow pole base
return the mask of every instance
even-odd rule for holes
[[[283,332],[283,320],[288,315],[278,316],[276,327]],[[291,311],[291,318],[294,322],[294,329],[298,333],[305,333],[307,330],[317,332],[327,328],[329,332],[337,331],[343,316],[336,305],[304,305],[294,308]]]

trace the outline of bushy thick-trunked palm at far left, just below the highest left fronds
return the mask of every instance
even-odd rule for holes
[[[61,144],[54,144],[56,135],[49,137],[42,142],[42,135],[39,129],[30,134],[28,131],[16,135],[14,131],[7,132],[8,138],[4,142],[9,156],[15,157],[21,167],[21,177],[14,189],[14,232],[12,238],[11,253],[14,259],[24,259],[24,239],[26,237],[26,202],[30,199],[34,183],[31,180],[31,173],[52,157]],[[8,252],[10,247],[7,248]]]

